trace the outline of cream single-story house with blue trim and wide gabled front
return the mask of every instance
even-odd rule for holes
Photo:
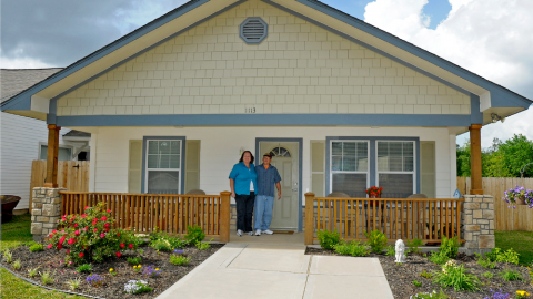
[[[302,229],[305,192],[453,197],[456,135],[481,182],[480,128],[531,104],[315,0],[199,0],[2,111],[90,132],[91,192],[219,194],[242,151],[272,152],[273,226]]]

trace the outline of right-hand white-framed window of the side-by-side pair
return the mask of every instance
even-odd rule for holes
[[[376,186],[384,198],[405,198],[416,193],[415,144],[412,141],[376,141]]]

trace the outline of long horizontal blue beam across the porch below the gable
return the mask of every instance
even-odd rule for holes
[[[152,114],[57,116],[60,126],[358,125],[470,126],[456,114]]]

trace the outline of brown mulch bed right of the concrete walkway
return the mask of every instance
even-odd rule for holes
[[[305,254],[338,256],[331,250],[310,247],[308,247]],[[420,276],[423,270],[426,272],[441,270],[439,265],[429,261],[428,258],[423,256],[409,255],[408,262],[403,265],[396,265],[394,262],[394,257],[375,254],[371,254],[370,257],[379,258],[395,299],[409,299],[412,295],[418,292],[431,292],[433,290],[440,290],[440,287],[438,285],[433,285],[431,279]],[[520,271],[522,277],[527,279],[526,281],[505,281],[499,277],[499,272],[503,270],[504,265],[497,264],[496,268],[494,269],[485,269],[477,265],[473,256],[465,256],[464,254],[459,254],[455,260],[457,264],[463,264],[466,269],[470,269],[471,272],[477,276],[481,279],[481,282],[484,285],[480,286],[482,290],[479,292],[456,292],[451,288],[444,289],[443,291],[452,299],[485,298],[491,296],[491,290],[500,289],[502,289],[503,292],[511,293],[511,298],[514,298],[514,295],[517,290],[525,290],[529,293],[533,293],[533,286],[529,283],[532,278],[529,277],[526,267],[514,265],[510,266],[511,269]],[[489,279],[481,276],[481,274],[487,271],[493,274],[493,278]],[[422,282],[422,287],[413,286],[413,280]]]

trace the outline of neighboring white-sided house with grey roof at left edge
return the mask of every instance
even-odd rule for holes
[[[62,69],[1,70],[2,103]],[[41,120],[1,113],[1,194],[22,199],[17,209],[28,209],[30,198],[31,162],[47,159],[48,128]],[[90,134],[62,128],[59,159],[88,159]]]

